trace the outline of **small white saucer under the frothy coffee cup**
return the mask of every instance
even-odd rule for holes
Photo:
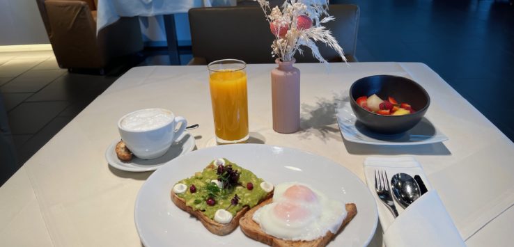
[[[149,170],[156,170],[157,168],[164,166],[166,162],[171,161],[180,155],[184,155],[187,152],[191,152],[194,149],[194,137],[191,134],[184,132],[180,135],[178,140],[180,141],[173,142],[171,144],[168,152],[166,152],[162,157],[157,159],[139,159],[134,156],[130,162],[120,161],[116,156],[116,144],[120,141],[116,140],[113,141],[105,151],[105,159],[107,159],[110,166],[119,170],[126,170],[129,172],[146,172]]]

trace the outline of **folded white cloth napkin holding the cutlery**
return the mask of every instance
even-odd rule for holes
[[[394,218],[375,193],[375,170],[384,170],[389,180],[396,173],[407,173],[412,177],[419,175],[428,192],[405,210],[395,202],[400,216]],[[377,202],[386,246],[465,246],[437,192],[432,189],[414,158],[366,158],[364,175]]]

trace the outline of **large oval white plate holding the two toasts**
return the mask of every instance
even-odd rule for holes
[[[273,184],[304,182],[327,196],[357,205],[357,216],[330,246],[366,246],[375,233],[377,209],[368,187],[334,161],[300,150],[261,144],[221,145],[191,152],[156,170],[141,186],[134,218],[144,246],[263,246],[239,228],[226,236],[206,230],[200,221],[171,202],[177,181],[226,157]]]

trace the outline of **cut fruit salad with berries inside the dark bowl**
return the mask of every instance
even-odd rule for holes
[[[407,115],[416,112],[412,109],[410,104],[398,104],[394,97],[388,97],[387,100],[382,100],[380,97],[373,94],[370,97],[358,97],[356,101],[357,104],[366,109],[366,111],[371,111],[380,115]]]

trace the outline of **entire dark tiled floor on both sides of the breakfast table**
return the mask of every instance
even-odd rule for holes
[[[514,140],[514,8],[508,1],[332,2],[361,8],[359,61],[426,63]],[[141,65],[163,64],[166,56],[150,56]],[[70,74],[52,51],[1,52],[0,184],[116,79]]]

